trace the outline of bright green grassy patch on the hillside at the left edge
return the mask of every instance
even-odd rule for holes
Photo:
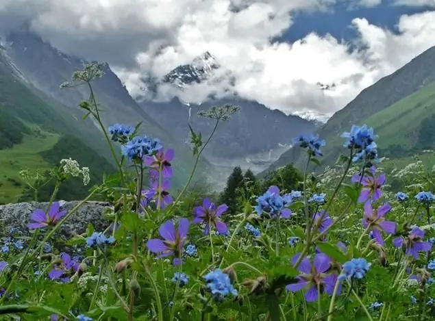
[[[34,135],[25,135],[21,144],[0,151],[0,203],[18,201],[25,187],[19,175],[20,170],[47,170],[53,167],[40,153],[51,149],[58,142],[60,135],[42,130],[35,131],[36,127],[31,127],[34,129]]]

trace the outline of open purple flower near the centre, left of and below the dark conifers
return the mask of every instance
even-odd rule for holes
[[[227,211],[228,205],[221,204],[216,208],[216,205],[210,201],[210,198],[204,198],[202,202],[202,206],[197,206],[193,209],[193,215],[195,218],[193,219],[194,224],[198,223],[206,223],[206,228],[204,229],[204,234],[208,235],[210,233],[210,225],[214,225],[216,230],[221,233],[227,233],[227,224],[219,220],[222,214]]]

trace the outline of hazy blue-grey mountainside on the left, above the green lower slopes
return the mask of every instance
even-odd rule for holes
[[[79,102],[88,99],[89,92],[86,86],[60,90],[60,84],[71,80],[71,75],[76,70],[82,70],[84,65],[88,64],[85,60],[58,51],[25,27],[16,29],[4,37],[3,51],[23,81],[49,99],[65,105],[66,112],[76,114]],[[103,110],[103,123],[109,126],[112,123],[136,125],[142,122],[141,133],[160,138],[164,146],[175,149],[175,185],[180,187],[192,166],[190,147],[182,140],[171,136],[132,99],[108,64],[104,66],[104,73],[101,79],[95,80],[92,84],[97,101]],[[83,114],[81,112],[80,115]],[[202,159],[199,169],[210,170],[210,165]]]

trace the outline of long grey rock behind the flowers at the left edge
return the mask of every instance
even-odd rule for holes
[[[60,208],[71,211],[79,201],[59,201]],[[21,231],[24,235],[29,235],[27,223],[30,222],[30,214],[35,209],[47,210],[49,203],[15,203],[0,205],[0,220],[3,225],[3,233],[8,233],[12,227]],[[110,225],[108,220],[103,218],[105,209],[110,207],[110,203],[86,202],[60,227],[59,235],[69,239],[77,233],[84,233],[88,223],[95,227],[95,231],[103,231]],[[68,215],[68,214],[67,214]]]

